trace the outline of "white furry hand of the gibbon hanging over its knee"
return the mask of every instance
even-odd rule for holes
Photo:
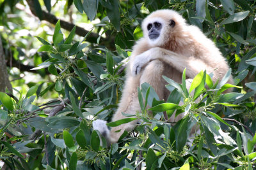
[[[145,66],[152,59],[152,53],[154,48],[147,50],[146,52],[141,53],[134,57],[135,59],[132,61],[132,76],[136,76],[140,73],[141,68]]]

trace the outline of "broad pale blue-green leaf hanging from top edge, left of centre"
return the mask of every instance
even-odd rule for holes
[[[87,17],[92,21],[97,14],[99,0],[86,0],[83,2],[83,10]]]

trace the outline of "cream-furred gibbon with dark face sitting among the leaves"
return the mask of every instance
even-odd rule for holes
[[[142,29],[143,38],[133,47],[126,69],[122,99],[113,115],[113,122],[127,118],[122,113],[135,115],[136,111],[140,111],[137,87],[144,82],[156,90],[159,99],[166,100],[170,92],[165,88],[163,75],[181,83],[185,68],[187,78],[194,78],[200,71],[206,70],[207,74],[213,74],[212,81],[216,82],[229,69],[211,39],[198,27],[186,24],[176,11],[154,11],[143,20]],[[233,83],[232,77],[228,83]],[[179,117],[174,115],[170,122],[177,122],[182,118],[182,114]],[[106,121],[95,120],[93,129],[97,129],[109,143],[116,143],[124,131],[131,131],[137,123],[135,120],[109,131]]]

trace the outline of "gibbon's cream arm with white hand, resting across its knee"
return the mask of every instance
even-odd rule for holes
[[[216,59],[211,60],[211,63],[206,63],[204,60],[199,59],[198,57],[187,57],[164,48],[154,47],[141,53],[140,55],[132,56],[130,65],[132,76],[139,74],[143,66],[156,59],[170,64],[170,66],[179,70],[180,73],[182,73],[186,68],[186,74],[189,76],[189,78],[194,78],[200,71],[206,70],[207,74],[213,73],[212,80],[214,82],[216,82],[218,79],[221,80],[229,69],[227,62],[223,59],[223,57],[216,57]],[[232,83],[232,78],[230,78],[228,81],[228,83]]]

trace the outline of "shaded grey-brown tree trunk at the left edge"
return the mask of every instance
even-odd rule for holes
[[[5,92],[6,87],[10,92],[12,92],[12,85],[8,79],[3,44],[0,36],[0,92]]]

